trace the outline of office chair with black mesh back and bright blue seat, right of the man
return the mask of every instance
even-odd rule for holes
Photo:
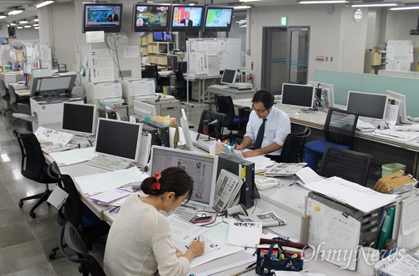
[[[314,140],[304,146],[304,154],[309,167],[317,170],[318,157],[323,156],[328,145],[352,150],[357,122],[358,112],[329,108],[328,117],[323,126],[325,140]]]

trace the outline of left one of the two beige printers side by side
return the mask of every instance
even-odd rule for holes
[[[114,106],[122,106],[121,82],[87,82],[84,87],[87,103],[112,103]]]

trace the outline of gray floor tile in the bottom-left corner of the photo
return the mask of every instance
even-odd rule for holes
[[[0,249],[1,275],[46,266],[47,264],[47,258],[37,241]],[[73,273],[73,275],[76,274]]]

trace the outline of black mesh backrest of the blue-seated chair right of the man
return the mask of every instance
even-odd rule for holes
[[[353,147],[358,112],[329,108],[324,126],[325,140]]]

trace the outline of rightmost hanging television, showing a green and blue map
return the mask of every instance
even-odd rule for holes
[[[205,31],[230,31],[233,7],[207,6],[205,10]]]

